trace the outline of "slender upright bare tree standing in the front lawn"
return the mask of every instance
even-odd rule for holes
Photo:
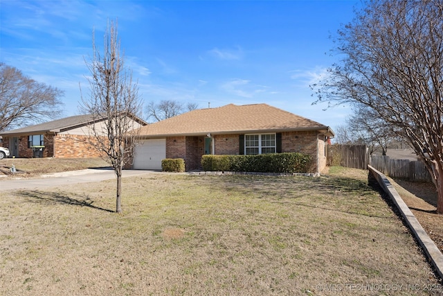
[[[93,56],[86,61],[91,72],[88,78],[90,96],[82,96],[81,108],[93,114],[94,147],[107,157],[116,173],[117,213],[122,211],[122,170],[131,161],[136,144],[134,115],[137,116],[142,110],[137,83],[132,81],[132,72],[125,67],[124,60],[120,55],[117,24],[111,21],[104,36],[102,55],[93,35]]]

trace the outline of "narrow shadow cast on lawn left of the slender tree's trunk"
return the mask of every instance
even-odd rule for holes
[[[27,198],[30,202],[37,202],[41,204],[70,204],[73,206],[90,207],[92,209],[99,209],[100,211],[108,211],[114,213],[109,209],[103,209],[102,207],[96,207],[92,205],[93,200],[87,196],[76,198],[70,198],[67,195],[56,192],[47,191],[17,191],[17,195]]]

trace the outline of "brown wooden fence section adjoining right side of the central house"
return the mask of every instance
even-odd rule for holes
[[[368,168],[369,155],[365,145],[328,145],[327,165],[347,168]]]

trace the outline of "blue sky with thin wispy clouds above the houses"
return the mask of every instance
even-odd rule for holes
[[[64,90],[78,114],[92,31],[118,18],[125,61],[147,105],[172,99],[219,107],[268,103],[332,128],[348,107],[323,111],[309,85],[338,60],[329,38],[352,20],[348,1],[0,2],[0,61]]]

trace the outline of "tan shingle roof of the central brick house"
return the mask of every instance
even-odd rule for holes
[[[327,130],[316,121],[267,104],[226,105],[193,110],[157,123],[145,125],[141,137],[202,135],[244,132],[277,132],[284,130]]]

